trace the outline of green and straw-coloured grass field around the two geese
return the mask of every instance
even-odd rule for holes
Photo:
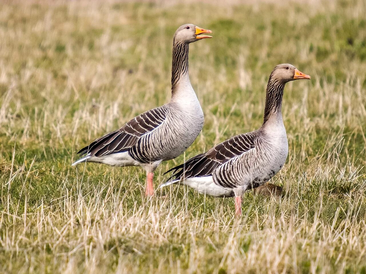
[[[366,273],[366,1],[2,1],[0,273]],[[232,199],[75,152],[170,98],[172,36],[190,46],[202,133],[163,173],[262,123],[277,64],[289,142],[283,197]],[[166,194],[164,197],[160,195]]]

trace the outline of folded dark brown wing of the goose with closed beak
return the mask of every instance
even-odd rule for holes
[[[211,148],[206,153],[202,153],[192,157],[185,163],[173,167],[166,173],[173,171],[170,180],[183,180],[193,177],[210,176],[217,168],[227,163],[231,159],[235,159],[244,152],[255,147],[255,139],[257,134],[249,132],[234,136]]]

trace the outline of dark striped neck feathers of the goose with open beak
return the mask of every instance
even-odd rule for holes
[[[172,93],[179,79],[188,74],[188,49],[186,42],[174,42],[172,57]]]

